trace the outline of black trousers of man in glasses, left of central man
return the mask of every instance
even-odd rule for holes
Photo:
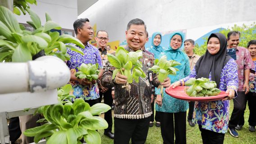
[[[104,103],[109,105],[112,108],[112,103],[113,103],[113,98],[111,94],[111,89],[107,90],[105,93],[102,93],[100,91],[100,103],[101,103],[101,98],[102,95],[104,95]],[[111,132],[112,131],[112,126],[113,126],[113,121],[112,121],[112,110],[110,109],[109,111],[104,113],[104,119],[107,121],[109,124],[108,128],[104,130],[105,133]]]

